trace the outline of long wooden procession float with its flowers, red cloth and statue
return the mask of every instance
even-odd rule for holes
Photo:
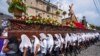
[[[16,19],[9,19],[10,26],[8,31],[8,37],[15,35],[17,38],[20,38],[21,34],[27,34],[28,36],[31,37],[33,34],[39,36],[39,33],[45,33],[45,34],[50,33],[52,35],[54,35],[55,33],[60,33],[64,35],[66,33],[96,32],[94,30],[86,29],[82,24],[77,22],[76,16],[72,10],[72,6],[73,4],[69,6],[70,9],[68,15],[70,16],[69,19],[73,22],[71,21],[70,21],[71,23],[67,22],[66,25],[64,26],[59,22],[57,22],[57,20],[43,19],[41,17],[35,17],[35,16],[29,16],[29,17],[24,16],[24,18],[17,17]],[[14,9],[16,8],[17,10],[23,12],[26,10],[25,5],[23,5],[22,7],[23,7],[22,9],[19,7],[14,7]],[[9,8],[9,10],[10,9],[11,7]]]

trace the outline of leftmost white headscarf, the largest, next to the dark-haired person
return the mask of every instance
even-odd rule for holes
[[[20,46],[19,46],[21,52],[23,52],[23,48],[28,48],[28,47],[32,48],[31,41],[30,41],[30,39],[28,38],[27,35],[22,34],[21,35],[21,43],[20,43]]]

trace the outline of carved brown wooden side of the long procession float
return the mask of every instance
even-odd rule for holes
[[[8,36],[15,35],[20,38],[21,34],[27,34],[30,37],[34,34],[39,36],[39,33],[50,33],[52,35],[56,33],[61,33],[65,35],[66,33],[82,33],[82,32],[96,32],[94,30],[89,30],[86,28],[74,28],[72,26],[62,26],[60,24],[42,24],[42,23],[31,23],[26,20],[10,19],[10,27]],[[41,20],[40,20],[41,21]],[[38,22],[38,21],[37,21]],[[41,21],[44,23],[44,21]],[[55,21],[54,21],[55,22]],[[78,24],[78,23],[76,23]]]

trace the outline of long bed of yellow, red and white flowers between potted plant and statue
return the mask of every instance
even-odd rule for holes
[[[26,19],[25,21],[28,24],[36,23],[36,24],[55,25],[55,26],[61,25],[57,20],[51,18],[37,18],[34,16],[28,17],[28,19]]]

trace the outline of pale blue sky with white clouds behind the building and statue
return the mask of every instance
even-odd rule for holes
[[[7,0],[0,0],[0,12],[11,15],[8,12]],[[62,10],[68,13],[69,5],[74,4],[74,12],[78,20],[81,20],[83,16],[90,24],[100,26],[100,0],[94,0],[96,2],[99,12],[93,3],[93,0],[50,0],[51,3],[56,4]]]

